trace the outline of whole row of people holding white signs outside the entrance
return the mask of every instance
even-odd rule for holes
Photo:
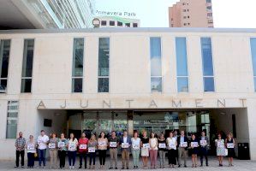
[[[221,134],[217,135],[215,140],[217,147],[217,158],[219,166],[223,166],[223,156],[229,157],[229,166],[233,166],[233,157],[235,156],[235,140],[232,138],[232,134],[228,133],[227,139],[222,139]],[[105,168],[106,152],[110,150],[110,168],[117,169],[117,154],[118,148],[121,148],[122,153],[122,169],[129,169],[129,156],[132,153],[134,169],[139,168],[140,156],[142,159],[143,168],[148,168],[148,159],[150,158],[151,168],[157,168],[157,160],[159,156],[160,168],[165,166],[165,156],[167,152],[168,163],[170,168],[187,167],[188,150],[191,150],[193,168],[198,166],[197,156],[200,156],[200,166],[203,166],[205,158],[205,165],[208,166],[208,150],[210,147],[210,140],[205,136],[205,132],[201,132],[199,138],[195,134],[192,134],[189,140],[185,136],[184,131],[181,131],[180,136],[177,136],[177,132],[170,132],[165,139],[164,134],[161,133],[158,138],[155,133],[150,133],[147,136],[147,132],[142,133],[139,138],[139,133],[134,132],[134,136],[131,138],[128,136],[128,132],[124,131],[122,138],[116,137],[116,132],[112,131],[110,138],[105,137],[104,132],[100,133],[98,139],[95,134],[92,134],[90,139],[86,138],[86,134],[82,133],[80,139],[75,139],[74,134],[70,133],[69,139],[65,138],[64,133],[61,133],[60,138],[57,138],[56,133],[51,133],[49,138],[45,135],[45,131],[42,130],[38,139],[33,139],[33,135],[29,136],[29,140],[23,138],[22,133],[19,133],[19,138],[16,139],[16,166],[19,167],[19,159],[21,156],[21,167],[24,168],[24,155],[27,150],[27,167],[34,167],[34,159],[39,157],[39,167],[45,168],[45,155],[46,149],[49,149],[51,158],[51,168],[57,168],[57,158],[59,158],[59,168],[65,168],[65,160],[68,155],[69,168],[74,168],[76,156],[79,154],[80,166],[82,168],[84,162],[84,168],[87,168],[87,157],[89,157],[89,168],[95,168],[96,152],[98,151],[99,168]]]

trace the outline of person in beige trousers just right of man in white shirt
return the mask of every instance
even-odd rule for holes
[[[49,140],[48,148],[50,154],[51,167],[57,168],[57,142],[56,133],[51,133],[51,139]]]

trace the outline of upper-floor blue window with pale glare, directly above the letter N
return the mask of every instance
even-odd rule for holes
[[[161,38],[150,38],[151,91],[162,91]]]

